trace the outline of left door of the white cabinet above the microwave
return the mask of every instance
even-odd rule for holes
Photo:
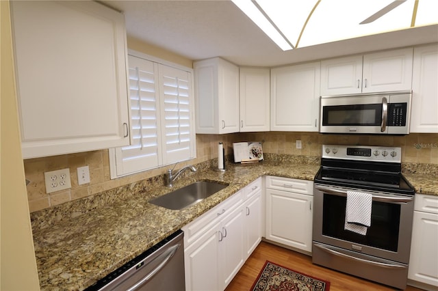
[[[321,95],[362,92],[362,55],[321,61]]]

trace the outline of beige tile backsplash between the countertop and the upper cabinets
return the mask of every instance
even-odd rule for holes
[[[300,140],[302,148],[296,148]],[[263,152],[270,154],[291,154],[296,156],[321,156],[322,144],[346,144],[363,146],[397,146],[402,148],[402,163],[438,164],[438,134],[411,134],[402,137],[374,135],[321,135],[319,133],[233,133],[228,135],[196,135],[196,158],[180,163],[184,165],[202,163],[218,156],[218,142],[224,143],[225,153],[231,154],[233,142],[262,141]],[[88,165],[90,183],[77,184],[77,167]],[[159,176],[166,167],[159,167],[140,174],[111,180],[108,150],[96,150],[62,156],[32,158],[24,161],[27,185],[27,197],[31,212],[56,206],[64,202],[79,199],[131,184],[139,180]],[[44,186],[44,171],[70,169],[71,189],[47,194]]]

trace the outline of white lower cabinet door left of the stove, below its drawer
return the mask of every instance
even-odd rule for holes
[[[266,189],[266,238],[311,252],[313,196]]]

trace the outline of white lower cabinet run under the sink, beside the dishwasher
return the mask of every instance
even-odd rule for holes
[[[261,178],[188,225],[185,289],[224,290],[261,240]]]

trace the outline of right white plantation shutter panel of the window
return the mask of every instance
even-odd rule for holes
[[[189,72],[159,65],[164,164],[194,157],[191,86]]]

